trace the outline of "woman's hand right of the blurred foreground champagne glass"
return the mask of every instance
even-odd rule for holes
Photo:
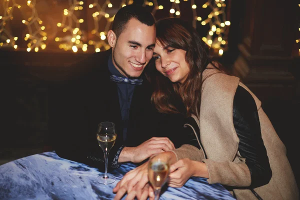
[[[208,178],[206,164],[188,158],[179,159],[170,166],[168,185],[170,187],[181,187],[191,176]]]

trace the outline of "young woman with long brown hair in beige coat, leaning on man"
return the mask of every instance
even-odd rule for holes
[[[172,164],[169,186],[179,187],[189,177],[200,176],[208,183],[223,184],[237,199],[298,199],[285,146],[261,102],[238,77],[209,61],[207,49],[195,29],[181,19],[157,21],[156,70],[148,74],[154,86],[152,101],[160,112],[184,112],[190,121],[185,126],[197,140],[196,145],[156,155]],[[116,199],[125,191],[149,195],[148,187],[142,190],[148,181],[146,164],[116,185]]]

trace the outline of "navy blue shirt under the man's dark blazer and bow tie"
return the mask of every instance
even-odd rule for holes
[[[108,69],[112,75],[125,77],[123,76],[113,65],[112,55],[110,54],[108,58]],[[135,85],[129,83],[116,83],[117,84],[117,93],[121,110],[121,128],[123,130],[123,140],[126,141],[127,137],[127,128],[129,124],[129,110],[130,103],[134,92]]]

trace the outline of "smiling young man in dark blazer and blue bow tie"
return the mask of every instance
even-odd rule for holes
[[[153,16],[140,5],[124,6],[115,14],[107,39],[111,49],[72,66],[78,75],[59,84],[50,96],[54,150],[60,157],[102,168],[103,152],[96,140],[101,121],[116,126],[109,166],[138,163],[179,147],[185,142],[179,138],[183,116],[158,113],[150,103],[151,87],[142,75],[155,45]]]

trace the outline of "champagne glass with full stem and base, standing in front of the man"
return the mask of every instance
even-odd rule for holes
[[[114,123],[109,121],[99,123],[96,137],[105,159],[105,172],[98,175],[96,181],[101,184],[110,184],[115,181],[115,177],[107,173],[108,153],[116,139]]]

